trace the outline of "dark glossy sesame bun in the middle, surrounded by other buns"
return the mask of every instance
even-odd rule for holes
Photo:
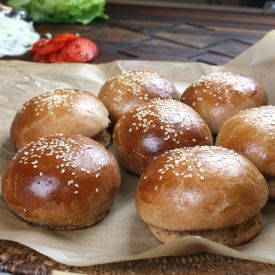
[[[113,142],[122,166],[140,175],[158,155],[184,146],[212,145],[207,124],[186,104],[173,99],[131,109],[115,125]]]

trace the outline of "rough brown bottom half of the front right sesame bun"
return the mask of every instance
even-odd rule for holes
[[[216,230],[170,231],[149,224],[148,226],[152,234],[162,243],[167,243],[184,236],[198,236],[228,247],[235,247],[252,240],[258,235],[262,226],[262,214],[258,212],[252,218],[238,225]]]

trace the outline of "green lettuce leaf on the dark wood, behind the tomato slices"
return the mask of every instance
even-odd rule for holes
[[[104,14],[105,0],[9,0],[12,8],[24,9],[28,19],[36,23],[89,24]]]

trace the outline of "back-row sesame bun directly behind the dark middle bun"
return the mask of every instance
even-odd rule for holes
[[[107,80],[98,97],[109,111],[113,125],[135,106],[157,99],[178,100],[174,84],[156,72],[134,70],[118,74]]]

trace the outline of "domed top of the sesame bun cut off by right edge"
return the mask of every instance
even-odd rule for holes
[[[265,175],[275,176],[275,106],[239,112],[218,133],[217,146],[235,150],[250,159]]]

